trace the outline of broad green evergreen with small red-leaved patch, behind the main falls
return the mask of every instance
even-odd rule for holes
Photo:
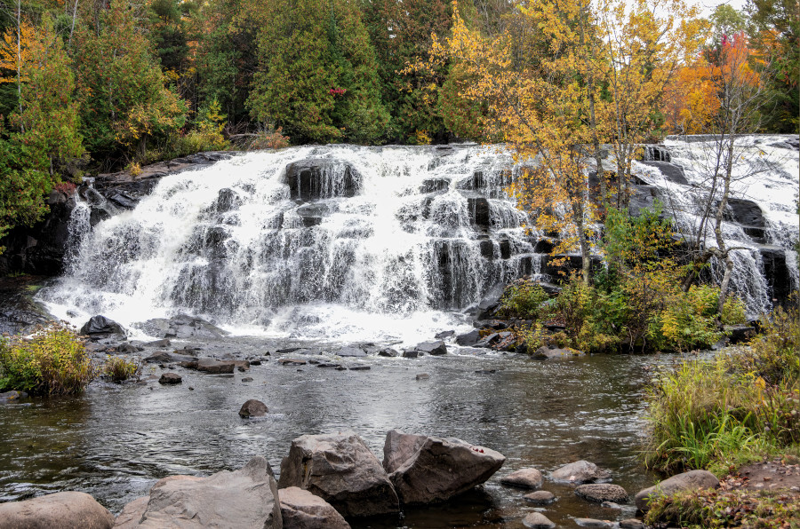
[[[361,12],[347,0],[276,0],[259,36],[253,117],[294,143],[384,136],[377,63]]]

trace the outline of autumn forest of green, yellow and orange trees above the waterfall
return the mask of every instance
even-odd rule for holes
[[[0,235],[54,186],[207,150],[463,138],[574,176],[556,146],[626,173],[668,133],[797,132],[796,2],[627,6],[4,0]],[[748,92],[733,129],[721,82]]]

